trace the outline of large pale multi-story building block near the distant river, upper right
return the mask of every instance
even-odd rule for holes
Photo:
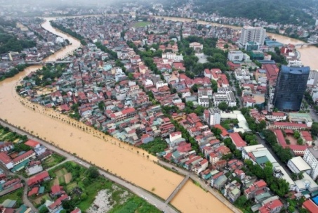
[[[244,26],[241,29],[241,37],[239,38],[239,44],[241,47],[249,41],[253,41],[260,45],[264,44],[266,30],[263,27],[251,27]]]

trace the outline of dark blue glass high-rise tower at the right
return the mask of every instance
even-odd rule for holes
[[[283,111],[300,110],[309,74],[310,67],[281,65],[272,102],[274,107]]]

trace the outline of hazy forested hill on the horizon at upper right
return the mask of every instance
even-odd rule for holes
[[[182,0],[178,0],[182,1]],[[260,18],[267,22],[303,25],[314,24],[302,9],[317,6],[317,0],[193,0],[198,13],[219,13],[226,17]]]

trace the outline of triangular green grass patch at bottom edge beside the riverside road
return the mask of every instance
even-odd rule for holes
[[[126,213],[159,213],[161,212],[159,209],[148,203],[143,198],[139,198],[137,195],[133,195],[133,197],[128,198],[126,202],[122,205],[117,205],[113,209],[110,209],[110,213],[118,213],[118,212],[126,212]]]

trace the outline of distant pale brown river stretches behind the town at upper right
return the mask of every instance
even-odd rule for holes
[[[164,18],[164,20],[173,20],[173,21],[182,21],[182,22],[190,22],[193,21],[191,18],[176,18],[176,17],[167,17],[167,16],[155,16],[156,18]],[[221,26],[221,24],[213,23],[213,22],[205,22],[202,20],[197,20],[198,24],[201,25],[213,25],[213,26]],[[240,30],[241,27],[236,27],[232,25],[222,25],[224,27],[231,27],[236,30]],[[291,39],[289,37],[284,37],[279,34],[267,33],[268,36],[271,36],[273,39],[277,39],[277,41],[283,44],[303,44],[304,41],[300,41],[298,39]],[[310,66],[312,70],[318,69],[318,48],[316,46],[304,46],[298,47],[297,51],[300,53],[300,60],[303,62],[303,65]]]

